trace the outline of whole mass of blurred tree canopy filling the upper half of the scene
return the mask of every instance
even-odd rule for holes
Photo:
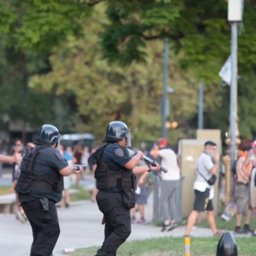
[[[256,96],[256,5],[245,0],[238,40],[239,127],[252,137]],[[218,72],[230,55],[224,0],[0,1],[0,114],[37,127],[102,137],[109,121],[135,139],[160,136],[164,38],[174,94],[174,141],[197,127],[198,85],[205,83],[205,127],[228,129],[229,87]],[[17,106],[19,106],[17,108]]]

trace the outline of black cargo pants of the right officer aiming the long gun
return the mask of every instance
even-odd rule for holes
[[[96,201],[105,219],[105,239],[97,256],[116,256],[131,233],[130,209],[123,206],[121,193],[99,191]]]

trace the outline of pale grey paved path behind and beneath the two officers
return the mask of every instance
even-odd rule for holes
[[[149,197],[146,208],[146,220],[152,220],[153,196]],[[102,213],[97,204],[91,201],[77,201],[69,209],[58,209],[60,237],[54,250],[54,256],[62,255],[65,248],[85,248],[100,246],[104,238],[104,226],[101,225]],[[181,226],[171,232],[160,232],[159,227],[133,224],[128,241],[164,236],[183,236],[185,227]],[[209,229],[194,228],[191,236],[211,237]],[[32,243],[32,231],[29,223],[19,223],[14,215],[0,214],[1,256],[29,256]],[[193,242],[192,242],[193,243]],[[95,251],[96,252],[96,251]]]

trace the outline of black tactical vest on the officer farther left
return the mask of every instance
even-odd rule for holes
[[[56,172],[54,175],[39,176],[34,173],[34,161],[40,150],[45,146],[36,146],[31,151],[28,151],[23,157],[20,164],[20,177],[15,187],[15,191],[21,194],[27,194],[32,191],[32,188],[38,190],[50,190],[61,192],[64,189],[63,176]]]

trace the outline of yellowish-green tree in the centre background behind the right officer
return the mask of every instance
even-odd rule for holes
[[[77,124],[79,132],[92,132],[102,138],[107,124],[120,119],[132,128],[135,140],[156,140],[161,131],[163,43],[147,43],[145,63],[134,60],[125,68],[109,64],[98,44],[98,34],[109,23],[104,13],[105,6],[97,6],[84,25],[84,36],[70,36],[56,48],[50,56],[52,71],[34,76],[30,86],[38,92],[54,90],[57,95],[74,96],[83,121]],[[179,69],[179,57],[173,51],[170,58],[169,84],[175,89],[175,94],[169,96],[170,120],[178,121],[180,129],[169,134],[184,136],[189,130],[188,120],[197,112],[197,80],[193,73]],[[212,97],[219,88],[216,85],[216,93],[206,96],[214,99],[206,103],[209,109],[219,104],[219,97]]]

